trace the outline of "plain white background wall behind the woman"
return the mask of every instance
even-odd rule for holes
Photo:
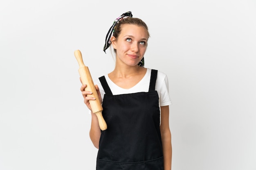
[[[144,20],[145,67],[165,72],[173,170],[256,170],[255,0],[0,2],[0,170],[94,170],[81,96],[81,50],[93,78],[126,11]]]

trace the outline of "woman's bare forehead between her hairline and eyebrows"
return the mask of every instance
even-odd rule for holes
[[[123,24],[121,26],[121,33],[120,35],[127,36],[135,36],[135,37],[142,37],[148,39],[148,31],[143,26],[137,26],[134,24]]]

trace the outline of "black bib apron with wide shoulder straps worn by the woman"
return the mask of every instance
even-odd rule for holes
[[[112,95],[105,76],[101,131],[96,170],[163,170],[157,70],[151,71],[148,92]]]

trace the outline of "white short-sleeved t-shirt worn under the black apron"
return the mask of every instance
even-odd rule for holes
[[[145,76],[137,83],[135,86],[131,87],[130,89],[123,89],[116,85],[114,82],[110,80],[108,77],[108,74],[105,75],[106,81],[108,83],[108,86],[111,89],[111,92],[113,95],[118,94],[130,94],[130,93],[137,93],[137,92],[148,92],[149,89],[149,83],[150,83],[150,76],[151,76],[151,69],[147,68],[147,72]],[[104,89],[99,81],[99,78],[94,80],[94,85],[98,85],[100,92],[101,92],[101,98],[104,97]],[[155,90],[158,93],[159,96],[159,106],[167,106],[171,105],[171,99],[169,96],[169,85],[168,85],[168,77],[163,72],[157,72],[157,80],[155,83]]]

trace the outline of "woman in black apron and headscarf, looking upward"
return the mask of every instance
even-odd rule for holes
[[[171,170],[168,79],[144,68],[149,33],[146,24],[131,12],[111,26],[103,48],[116,54],[115,69],[94,81],[108,129],[101,131],[92,114],[90,138],[96,148],[97,170]],[[84,102],[92,92],[81,86]]]

